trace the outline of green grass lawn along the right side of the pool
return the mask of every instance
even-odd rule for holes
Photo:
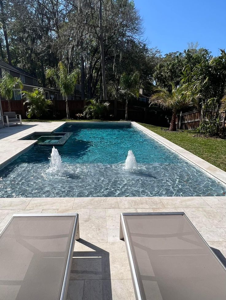
[[[184,132],[163,131],[161,127],[139,123],[151,131],[168,139],[170,142],[190,151],[191,153],[205,159],[212,165],[226,171],[226,140],[220,138],[194,137],[195,132],[186,130]]]

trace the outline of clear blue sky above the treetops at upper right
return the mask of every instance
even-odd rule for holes
[[[162,55],[198,41],[216,56],[226,49],[226,0],[134,0],[144,21],[144,37]]]

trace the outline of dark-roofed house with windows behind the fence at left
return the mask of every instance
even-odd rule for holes
[[[0,60],[0,77],[2,77],[3,71],[10,73],[13,77],[19,77],[24,85],[23,90],[31,92],[34,88],[40,88],[38,79],[35,76],[25,72],[23,69],[7,64]],[[45,98],[51,100],[61,100],[61,94],[58,88],[43,88]],[[21,90],[14,90],[12,100],[21,100]]]

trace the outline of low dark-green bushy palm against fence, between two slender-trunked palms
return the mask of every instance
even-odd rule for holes
[[[99,102],[95,99],[88,101],[88,105],[84,107],[84,117],[87,119],[102,119],[106,114],[109,102]]]

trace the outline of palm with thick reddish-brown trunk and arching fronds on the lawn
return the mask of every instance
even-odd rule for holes
[[[186,106],[194,105],[195,97],[189,91],[186,91],[184,86],[175,87],[171,83],[172,89],[169,91],[167,88],[156,88],[156,94],[154,94],[150,100],[150,106],[157,104],[158,106],[170,109],[172,111],[172,119],[170,122],[170,131],[176,131],[176,115],[177,112]]]

